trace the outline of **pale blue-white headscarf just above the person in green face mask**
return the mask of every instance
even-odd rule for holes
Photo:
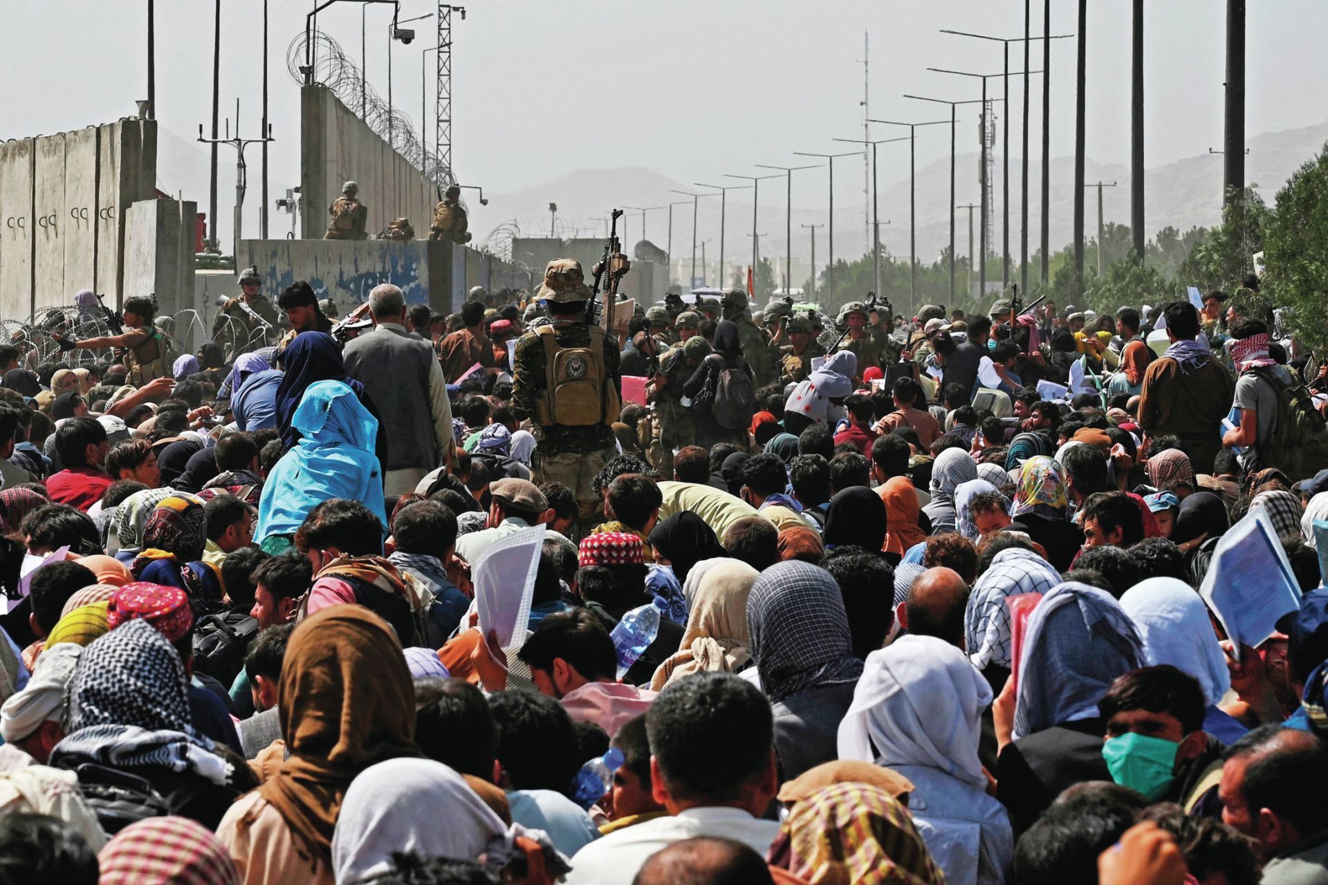
[[[1222,699],[1231,673],[1208,609],[1194,588],[1174,577],[1150,577],[1125,592],[1121,608],[1139,629],[1149,666],[1170,663],[1189,673],[1203,686],[1208,706]]]

